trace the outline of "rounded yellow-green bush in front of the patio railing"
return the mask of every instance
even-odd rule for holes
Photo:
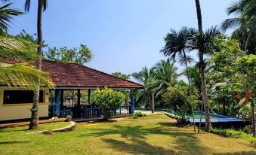
[[[92,99],[101,109],[103,109],[103,117],[107,120],[111,114],[116,112],[119,106],[125,104],[125,95],[121,92],[114,91],[104,87],[103,90],[97,88]]]

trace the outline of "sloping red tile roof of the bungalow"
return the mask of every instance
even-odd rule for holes
[[[142,85],[132,81],[116,78],[113,75],[75,63],[42,60],[42,71],[51,74],[56,87],[143,88]]]

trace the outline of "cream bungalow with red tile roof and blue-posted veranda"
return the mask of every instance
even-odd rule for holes
[[[79,117],[88,118],[88,114],[100,115],[100,109],[91,107],[91,90],[108,87],[114,90],[136,90],[143,89],[143,86],[132,81],[116,78],[113,75],[88,68],[83,65],[67,62],[55,62],[42,60],[42,71],[51,74],[51,79],[55,84],[55,99],[49,101],[48,88],[42,88],[39,95],[39,117],[62,116],[75,114]],[[76,107],[63,106],[63,92],[65,90],[76,90]],[[87,105],[81,105],[81,91],[88,92]],[[33,92],[15,87],[0,87],[0,121],[27,119],[31,115]],[[128,108],[129,113],[133,113],[134,97],[131,96],[131,104],[123,106]],[[121,108],[120,108],[121,111]]]

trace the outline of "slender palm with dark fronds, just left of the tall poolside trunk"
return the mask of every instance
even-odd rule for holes
[[[194,29],[187,29],[187,27],[183,27],[180,31],[175,31],[171,29],[171,32],[168,33],[165,37],[165,47],[160,51],[165,56],[170,56],[172,60],[176,59],[176,55],[178,55],[178,62],[180,65],[185,65],[187,70],[187,79],[189,82],[189,91],[191,95],[191,85],[190,85],[190,74],[188,74],[188,63],[193,62],[193,58],[191,56],[187,56],[187,53],[190,52],[190,48],[187,47],[188,42],[190,41],[191,35],[195,33]],[[193,125],[194,131],[196,132],[195,126],[195,118],[194,118],[194,110],[193,103],[191,104],[192,114],[193,114]]]

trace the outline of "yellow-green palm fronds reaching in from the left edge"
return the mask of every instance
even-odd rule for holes
[[[0,85],[35,90],[36,79],[39,78],[42,84],[52,87],[53,84],[47,73],[35,69],[28,63],[15,65],[8,63],[10,60],[11,62],[24,62],[36,58],[35,44],[5,33],[13,17],[23,14],[11,9],[11,5],[12,3],[8,3],[0,7]]]

